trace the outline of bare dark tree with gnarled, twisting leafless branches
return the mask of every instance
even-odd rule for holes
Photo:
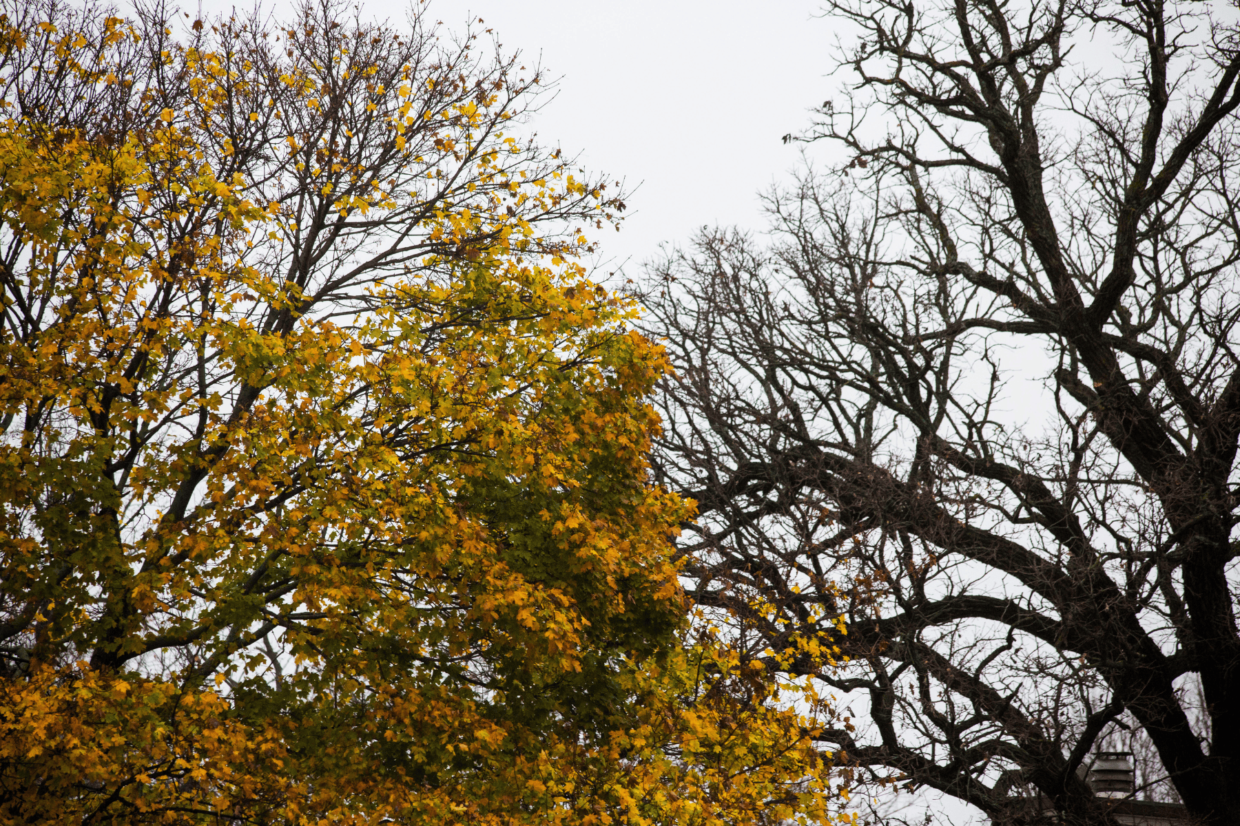
[[[1141,794],[1240,822],[1234,17],[827,15],[854,85],[801,139],[843,162],[646,287],[693,599],[857,692],[821,739],[870,780],[1114,824],[1083,775],[1135,737]],[[851,671],[792,645],[832,617]]]

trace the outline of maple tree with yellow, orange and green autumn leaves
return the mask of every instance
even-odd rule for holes
[[[821,814],[688,635],[624,204],[517,58],[340,11],[0,16],[0,819]]]

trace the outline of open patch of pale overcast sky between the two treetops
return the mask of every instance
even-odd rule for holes
[[[404,7],[363,9],[398,22]],[[759,227],[758,192],[800,159],[780,136],[836,85],[835,37],[816,0],[432,0],[453,30],[482,17],[507,50],[558,78],[536,116],[543,144],[635,188],[613,263],[639,263],[702,224]],[[815,147],[831,160],[831,150]],[[595,230],[598,232],[598,230]],[[611,267],[608,267],[611,269]]]

